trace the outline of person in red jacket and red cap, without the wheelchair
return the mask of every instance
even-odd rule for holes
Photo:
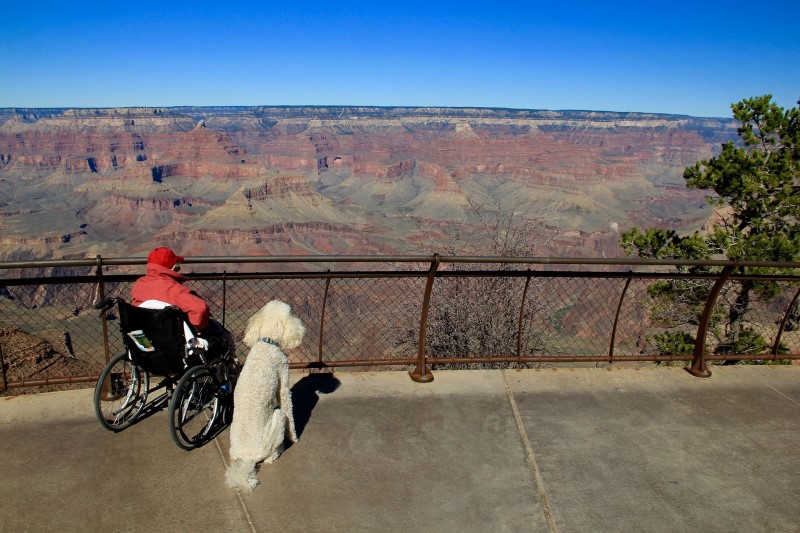
[[[233,337],[219,322],[211,317],[206,302],[185,283],[188,278],[180,274],[183,256],[166,247],[154,248],[147,256],[147,270],[131,288],[131,303],[137,307],[162,309],[168,305],[182,310],[191,326],[184,330],[186,339],[210,353],[233,355]]]

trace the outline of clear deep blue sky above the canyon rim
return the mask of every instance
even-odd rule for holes
[[[730,117],[800,98],[800,1],[3,0],[0,107],[378,105]]]

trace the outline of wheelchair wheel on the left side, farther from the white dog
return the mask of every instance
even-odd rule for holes
[[[94,412],[100,425],[121,431],[133,424],[147,402],[150,377],[122,353],[100,374],[94,388]]]

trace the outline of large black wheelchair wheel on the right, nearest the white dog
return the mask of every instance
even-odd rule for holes
[[[208,368],[199,365],[184,374],[169,404],[172,440],[184,450],[202,446],[213,435],[220,401]]]

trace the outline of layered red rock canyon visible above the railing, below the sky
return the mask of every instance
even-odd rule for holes
[[[155,245],[189,256],[491,254],[486,214],[555,235],[537,255],[619,256],[632,226],[703,228],[711,208],[683,170],[736,126],[477,108],[0,109],[0,260]]]

